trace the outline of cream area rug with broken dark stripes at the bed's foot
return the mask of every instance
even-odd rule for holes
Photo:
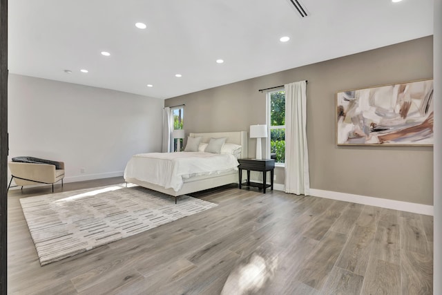
[[[21,198],[40,264],[47,265],[217,206],[118,184]]]

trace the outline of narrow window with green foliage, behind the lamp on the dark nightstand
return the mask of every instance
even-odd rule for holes
[[[267,93],[267,126],[269,126],[270,140],[267,144],[269,156],[278,164],[285,163],[285,91],[271,91]]]

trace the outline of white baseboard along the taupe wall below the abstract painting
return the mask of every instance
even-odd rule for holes
[[[310,189],[310,196],[327,198],[333,200],[340,200],[345,202],[354,202],[358,204],[366,204],[375,207],[382,207],[387,209],[394,209],[400,211],[407,211],[423,215],[434,215],[433,206],[425,204],[416,204],[410,202],[403,202],[397,200],[389,200],[383,198],[374,198],[360,195],[353,195],[352,193],[338,193],[336,191],[323,191],[322,189]]]

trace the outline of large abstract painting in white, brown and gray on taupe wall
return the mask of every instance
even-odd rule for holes
[[[433,144],[433,80],[336,93],[336,142]]]

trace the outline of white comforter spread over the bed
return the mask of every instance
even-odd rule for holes
[[[139,153],[126,164],[124,178],[136,178],[179,191],[184,178],[238,170],[234,155],[199,152]]]

